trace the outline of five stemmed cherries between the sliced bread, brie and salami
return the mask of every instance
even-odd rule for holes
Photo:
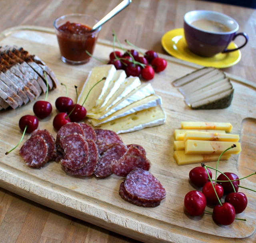
[[[45,73],[44,73],[45,75]],[[46,78],[46,75],[45,75]],[[102,78],[100,81],[98,81],[96,84],[94,84],[94,86],[96,86],[99,82],[101,82],[102,80],[105,80],[106,78]],[[40,119],[44,119],[46,117],[48,117],[51,112],[52,112],[52,105],[50,104],[50,102],[47,102],[47,96],[48,96],[48,82],[47,82],[47,78],[46,78],[46,83],[47,83],[47,91],[46,91],[46,97],[44,100],[39,100],[37,102],[35,102],[34,106],[33,106],[33,111],[34,114],[40,118]],[[61,83],[62,84],[62,83]],[[83,120],[86,117],[86,109],[83,107],[84,103],[86,102],[86,99],[88,97],[88,95],[90,94],[91,90],[94,88],[94,86],[92,86],[92,88],[90,89],[90,91],[88,92],[84,103],[82,104],[82,106],[80,106],[79,104],[77,104],[77,100],[78,100],[78,94],[77,94],[77,86],[75,86],[76,88],[76,104],[74,104],[73,100],[71,98],[68,97],[68,89],[67,86],[65,84],[62,84],[66,87],[66,96],[61,96],[59,98],[57,98],[57,100],[55,101],[55,106],[56,109],[60,112],[58,113],[53,120],[53,127],[58,131],[63,125],[65,125],[66,123],[72,121],[72,122],[78,122]],[[12,150],[16,149],[16,147],[18,147],[18,145],[21,143],[25,132],[26,133],[32,133],[34,130],[36,130],[38,128],[38,118],[36,116],[32,116],[32,115],[25,115],[22,116],[22,118],[20,118],[19,120],[19,127],[20,129],[23,131],[23,135],[22,138],[20,139],[19,143],[10,151],[6,152],[5,154],[7,155],[8,153],[10,153]]]

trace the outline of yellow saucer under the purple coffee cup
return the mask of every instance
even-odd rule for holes
[[[162,37],[162,46],[166,52],[176,58],[194,62],[206,67],[228,68],[237,64],[241,59],[240,50],[230,53],[219,53],[211,58],[205,58],[194,54],[188,49],[183,28],[170,30],[164,34]],[[231,42],[228,49],[234,48],[237,48],[237,46],[234,42]]]

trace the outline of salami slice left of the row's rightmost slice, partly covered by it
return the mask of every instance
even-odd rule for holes
[[[106,178],[112,174],[111,162],[115,159],[118,160],[126,152],[126,145],[116,143],[113,147],[108,149],[99,157],[98,167],[94,171],[94,175],[100,178]]]

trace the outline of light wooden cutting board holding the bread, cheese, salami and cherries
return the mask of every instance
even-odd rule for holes
[[[54,31],[49,28],[20,26],[4,31],[0,36],[0,46],[22,46],[31,54],[39,56],[54,71],[58,80],[68,86],[68,96],[76,100],[74,85],[78,86],[79,93],[90,70],[101,63],[92,59],[82,66],[64,64],[60,60],[56,36],[53,33]],[[111,43],[99,40],[94,56],[107,61],[110,52]],[[246,193],[248,206],[237,216],[246,218],[246,222],[236,220],[232,225],[222,226],[215,223],[211,215],[192,217],[186,212],[184,196],[188,191],[200,189],[190,183],[188,173],[199,165],[176,164],[173,159],[173,132],[174,129],[180,128],[181,121],[218,121],[232,123],[232,133],[239,134],[245,118],[256,118],[256,90],[232,82],[235,92],[229,108],[191,110],[184,103],[182,94],[171,83],[200,66],[170,56],[160,54],[160,57],[168,61],[168,66],[164,72],[156,74],[150,83],[156,94],[162,97],[162,107],[167,116],[166,123],[121,135],[126,144],[138,143],[146,149],[147,157],[152,162],[150,172],[166,188],[166,198],[160,206],[143,208],[122,200],[118,195],[118,189],[124,178],[116,175],[106,179],[94,176],[76,177],[66,174],[60,164],[55,162],[48,163],[42,169],[27,167],[18,150],[30,137],[29,134],[24,136],[24,141],[16,150],[5,155],[5,152],[20,140],[22,133],[18,121],[26,114],[33,115],[32,107],[35,101],[16,110],[0,112],[0,186],[68,215],[143,242],[250,242],[250,235],[256,229],[256,193],[252,191],[240,190]],[[240,80],[236,77],[235,79]],[[52,121],[57,114],[54,102],[59,96],[65,96],[64,86],[58,86],[56,90],[49,92],[48,101],[53,105],[53,111],[50,117],[39,121],[38,127],[48,129],[55,137],[56,131]],[[40,96],[39,100],[43,99],[44,95]],[[252,129],[255,129],[255,126]],[[246,138],[250,142],[250,134],[247,134]],[[252,144],[251,146],[253,147]],[[255,161],[250,161],[250,156],[246,159],[254,168],[247,168],[247,161],[241,161],[240,155],[232,155],[228,161],[220,162],[219,169],[223,172],[236,173],[239,177],[244,175],[245,167],[246,173],[248,169],[255,171]],[[216,162],[207,164],[216,166]],[[245,179],[240,185],[256,189],[256,179]],[[206,209],[212,211],[212,208]]]

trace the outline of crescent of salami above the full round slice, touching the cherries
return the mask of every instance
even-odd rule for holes
[[[78,133],[84,136],[84,130],[80,124],[76,122],[68,122],[66,125],[62,126],[57,133],[56,137],[56,149],[64,153],[63,148],[60,146],[60,139],[70,134]]]

